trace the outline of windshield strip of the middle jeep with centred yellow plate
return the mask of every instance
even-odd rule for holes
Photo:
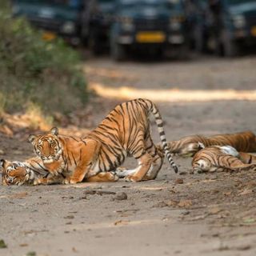
[[[180,0],[119,0],[118,6],[121,8],[134,8],[134,7],[163,7],[166,9],[173,9]]]

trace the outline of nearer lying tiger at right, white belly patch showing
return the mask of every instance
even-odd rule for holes
[[[194,154],[194,172],[214,172],[223,170],[256,170],[256,156],[238,152],[232,146],[207,146]]]

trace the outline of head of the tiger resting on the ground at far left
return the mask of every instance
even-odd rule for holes
[[[2,167],[2,185],[4,186],[19,186],[33,179],[34,176],[23,162],[9,162],[1,159],[0,167]]]

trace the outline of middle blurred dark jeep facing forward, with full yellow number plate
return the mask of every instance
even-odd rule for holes
[[[111,27],[110,54],[126,58],[127,50],[173,50],[187,54],[186,19],[181,0],[117,0]]]

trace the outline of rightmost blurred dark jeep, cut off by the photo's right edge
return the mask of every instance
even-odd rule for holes
[[[212,24],[209,27],[209,46],[224,56],[239,54],[242,47],[256,45],[256,1],[209,1]]]

